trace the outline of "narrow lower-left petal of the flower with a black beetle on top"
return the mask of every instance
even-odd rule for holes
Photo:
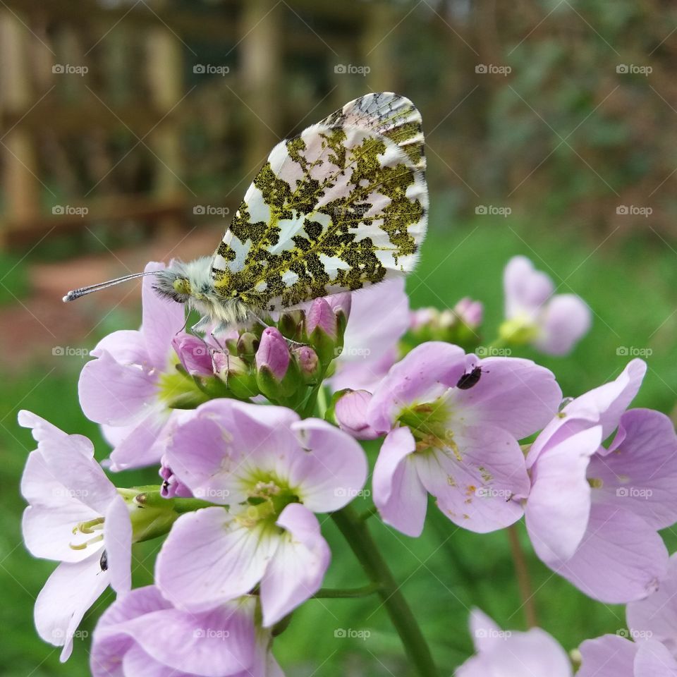
[[[411,458],[415,448],[410,429],[394,429],[384,439],[372,477],[374,505],[382,520],[413,537],[421,535],[427,510],[427,493]]]

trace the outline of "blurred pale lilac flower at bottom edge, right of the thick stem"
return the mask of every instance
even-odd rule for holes
[[[456,677],[572,677],[566,651],[544,630],[504,631],[474,609],[470,631],[475,656],[456,670]]]

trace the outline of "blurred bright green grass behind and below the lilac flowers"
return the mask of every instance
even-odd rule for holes
[[[523,224],[481,216],[465,224],[446,223],[433,214],[431,234],[420,267],[410,276],[412,306],[453,305],[470,295],[485,304],[484,336],[494,338],[501,321],[501,273],[509,257],[529,256],[547,271],[559,291],[579,293],[594,312],[592,331],[567,358],[547,358],[525,350],[556,373],[564,394],[575,396],[615,377],[628,358],[618,348],[650,348],[649,370],[635,405],[670,413],[677,401],[677,252],[659,239],[621,238],[618,233],[596,241],[575,229],[554,232],[548,224]],[[378,319],[374,318],[374,322]],[[133,328],[139,315],[118,316],[117,327]],[[93,343],[92,343],[93,346]],[[518,354],[518,353],[514,353]],[[11,357],[11,356],[8,356]],[[30,434],[16,425],[18,408],[28,408],[67,432],[90,436],[98,458],[108,453],[97,426],[80,412],[78,372],[82,361],[61,358],[48,377],[46,365],[26,365],[19,376],[4,375],[0,389],[0,673],[6,677],[83,676],[88,673],[89,640],[76,640],[73,657],[59,664],[59,650],[35,635],[32,605],[53,564],[37,561],[25,551],[20,537],[24,504],[18,482],[25,457],[32,449]],[[2,375],[2,374],[0,374]],[[372,458],[375,449],[370,449]],[[154,481],[154,473],[116,477],[121,485]],[[457,529],[431,506],[427,527],[410,539],[372,518],[370,527],[382,547],[403,592],[422,624],[441,666],[453,673],[471,652],[468,609],[480,606],[504,628],[524,629],[523,611],[505,532],[476,535]],[[324,525],[333,553],[325,585],[365,583],[360,567],[330,520]],[[522,525],[536,593],[540,625],[566,649],[625,626],[623,607],[587,599],[551,574],[532,555]],[[670,551],[677,549],[672,530],[664,532]],[[135,551],[135,584],[152,577],[159,543],[141,544]],[[97,616],[111,602],[102,599],[87,614],[83,630],[91,631]],[[366,639],[335,638],[337,628],[366,630]],[[288,676],[343,675],[407,676],[401,645],[377,597],[359,600],[311,601],[295,612],[293,622],[276,640],[275,652]]]

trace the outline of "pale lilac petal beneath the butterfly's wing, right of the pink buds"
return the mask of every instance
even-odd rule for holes
[[[398,341],[409,328],[409,298],[403,279],[382,282],[352,296],[331,387],[371,392],[398,359]]]

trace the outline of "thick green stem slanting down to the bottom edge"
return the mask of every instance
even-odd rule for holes
[[[402,640],[405,652],[420,677],[439,677],[430,649],[403,597],[396,580],[379,553],[374,539],[357,513],[350,506],[332,513],[332,518],[348,545],[357,556],[365,573],[374,585],[378,585],[379,597],[390,620]]]

